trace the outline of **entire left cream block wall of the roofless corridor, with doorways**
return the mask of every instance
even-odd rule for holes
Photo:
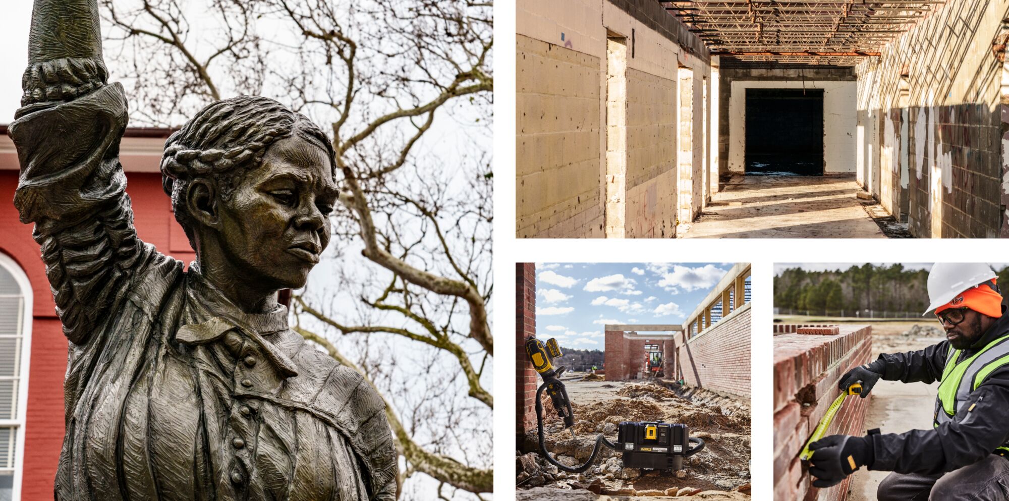
[[[699,109],[710,77],[703,42],[659,3],[634,0],[520,0],[517,27],[516,235],[674,236],[681,66],[696,80],[697,147],[713,123]],[[627,46],[622,137],[607,130],[607,36]],[[607,143],[626,145],[612,179]],[[696,157],[687,180],[694,214],[706,156]]]

